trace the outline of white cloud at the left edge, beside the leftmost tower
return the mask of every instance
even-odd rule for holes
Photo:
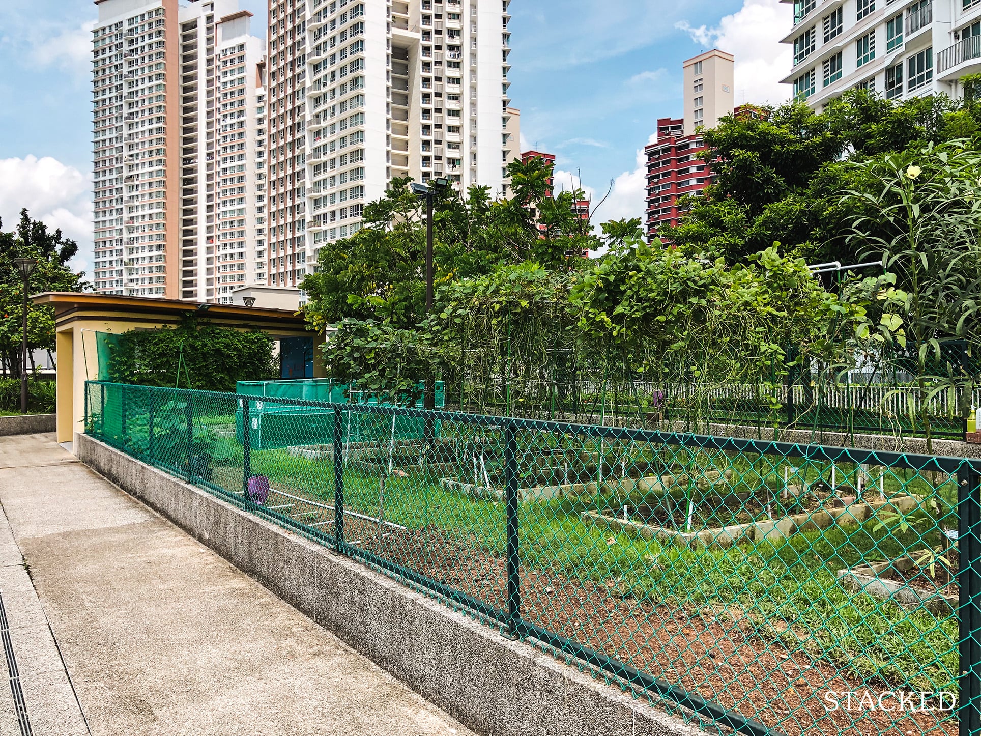
[[[61,229],[77,240],[72,266],[91,274],[92,195],[88,177],[75,167],[45,156],[0,159],[0,217],[3,229],[17,226],[21,210],[48,230]]]

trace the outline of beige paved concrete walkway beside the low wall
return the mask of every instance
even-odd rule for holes
[[[36,736],[471,733],[53,435],[0,438],[0,597]]]

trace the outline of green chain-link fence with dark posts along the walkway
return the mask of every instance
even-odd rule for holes
[[[271,400],[297,411],[259,445]],[[85,404],[107,444],[703,725],[981,733],[979,461],[97,382]]]

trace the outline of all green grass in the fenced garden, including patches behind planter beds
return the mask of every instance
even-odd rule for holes
[[[213,416],[208,425],[231,425],[231,416]],[[443,437],[450,435],[444,425]],[[554,441],[522,438],[528,447],[554,448]],[[222,464],[241,467],[241,447],[234,437],[216,440]],[[384,445],[380,440],[380,446]],[[561,441],[560,443],[561,444]],[[734,471],[733,492],[778,491],[784,467],[791,483],[830,480],[829,468],[817,464],[792,465],[779,457],[756,457],[719,452],[664,450],[628,447],[625,444],[590,444],[583,451],[594,459],[607,457],[608,465],[660,462],[672,472],[685,468]],[[161,458],[167,459],[167,458]],[[172,464],[180,458],[170,458]],[[496,460],[494,460],[496,461]],[[527,456],[523,462],[532,462]],[[587,462],[587,460],[583,460]],[[274,488],[291,489],[311,499],[334,499],[334,464],[330,460],[308,460],[284,449],[253,450],[252,471],[268,476]],[[552,462],[550,457],[543,464]],[[854,463],[838,463],[840,484],[855,483]],[[496,468],[491,467],[491,475]],[[215,482],[222,480],[216,469]],[[468,468],[469,470],[469,468]],[[878,471],[873,474],[878,477]],[[696,473],[697,474],[697,473]],[[233,472],[228,474],[231,479]],[[228,481],[231,490],[237,481]],[[380,479],[377,471],[362,472],[348,463],[344,473],[345,507],[375,515],[379,508]],[[911,472],[889,470],[885,475],[887,495],[933,493],[927,479]],[[877,495],[877,488],[869,488]],[[951,512],[956,489],[948,482],[936,491],[941,515]],[[743,545],[730,550],[691,551],[663,546],[628,533],[611,533],[605,527],[585,522],[581,513],[593,509],[617,509],[625,502],[663,502],[665,494],[607,493],[580,499],[553,499],[523,503],[519,510],[520,548],[526,567],[561,569],[573,579],[608,583],[633,601],[636,615],[645,606],[684,607],[711,615],[742,617],[761,641],[782,641],[789,648],[802,648],[812,657],[834,663],[860,677],[873,678],[896,687],[941,690],[949,688],[957,670],[957,621],[925,609],[910,611],[863,594],[852,594],[837,582],[835,572],[861,561],[881,560],[939,544],[936,516],[920,514],[918,526],[899,526],[893,520],[882,526],[878,520],[862,525],[833,527],[820,532],[800,533],[782,544]],[[675,495],[675,498],[679,498]],[[684,498],[684,494],[680,497]],[[505,549],[504,504],[473,499],[447,491],[439,477],[417,472],[387,478],[385,517],[410,529],[435,527],[448,540],[470,549],[502,555]],[[704,513],[698,523],[711,522]],[[953,517],[949,526],[955,526]],[[612,541],[612,544],[610,542]],[[475,550],[476,552],[477,550]],[[659,619],[651,619],[660,625]],[[765,645],[764,645],[765,646]],[[637,662],[643,666],[643,662]]]

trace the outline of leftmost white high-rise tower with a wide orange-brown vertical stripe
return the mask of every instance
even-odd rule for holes
[[[235,240],[226,250],[250,265],[236,286],[261,283],[265,272],[255,265],[264,264],[265,252],[258,254],[256,226],[261,235],[265,223],[256,219],[265,159],[256,79],[263,44],[248,35],[249,15],[238,11],[237,0],[96,4],[95,288],[217,300],[225,252],[219,220],[232,221],[230,210],[220,208],[219,188],[240,165],[238,151],[233,163],[226,146],[220,152],[219,137],[241,128],[251,141],[242,149],[249,160],[241,164],[247,171],[236,173],[236,195],[246,197],[240,208],[248,214],[232,221]],[[243,67],[241,76],[221,76]],[[247,83],[228,86],[242,78]]]

